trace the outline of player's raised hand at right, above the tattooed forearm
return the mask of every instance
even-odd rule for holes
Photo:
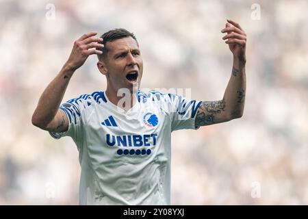
[[[227,32],[227,35],[222,40],[227,40],[226,43],[229,44],[229,49],[233,53],[233,57],[246,61],[246,34],[238,23],[230,19],[227,19],[227,21],[226,27],[221,30],[222,33]]]

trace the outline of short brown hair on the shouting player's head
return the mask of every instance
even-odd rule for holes
[[[105,32],[105,34],[103,34],[103,35],[101,36],[101,38],[103,38],[103,42],[99,42],[99,43],[101,43],[101,44],[104,44],[105,47],[103,47],[103,48],[97,48],[97,50],[103,51],[103,54],[97,55],[97,57],[99,57],[99,60],[102,60],[102,59],[105,58],[106,55],[107,55],[107,52],[108,52],[108,49],[107,49],[107,47],[106,47],[106,43],[107,43],[107,42],[112,42],[112,41],[114,41],[114,40],[118,40],[118,39],[120,39],[120,38],[125,38],[125,37],[129,37],[129,36],[131,36],[131,38],[133,38],[134,40],[136,40],[136,42],[137,42],[137,44],[138,44],[138,41],[137,41],[136,36],[135,36],[133,33],[127,31],[126,29],[117,28],[117,29],[112,29],[112,30],[110,30],[110,31]],[[138,47],[139,47],[139,44],[138,44]]]

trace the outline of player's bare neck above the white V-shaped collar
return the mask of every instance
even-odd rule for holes
[[[105,94],[114,105],[128,111],[136,104],[136,92],[138,92],[138,89],[119,89],[116,91],[108,89],[107,86]]]

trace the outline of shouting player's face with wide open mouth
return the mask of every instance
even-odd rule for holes
[[[120,88],[140,87],[143,61],[136,40],[131,37],[107,42],[105,60],[107,83],[114,91]]]

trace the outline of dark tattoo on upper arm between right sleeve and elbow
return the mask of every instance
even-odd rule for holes
[[[219,116],[224,112],[226,102],[224,99],[221,101],[203,101],[198,108],[196,114],[195,126],[211,125],[221,123]]]

